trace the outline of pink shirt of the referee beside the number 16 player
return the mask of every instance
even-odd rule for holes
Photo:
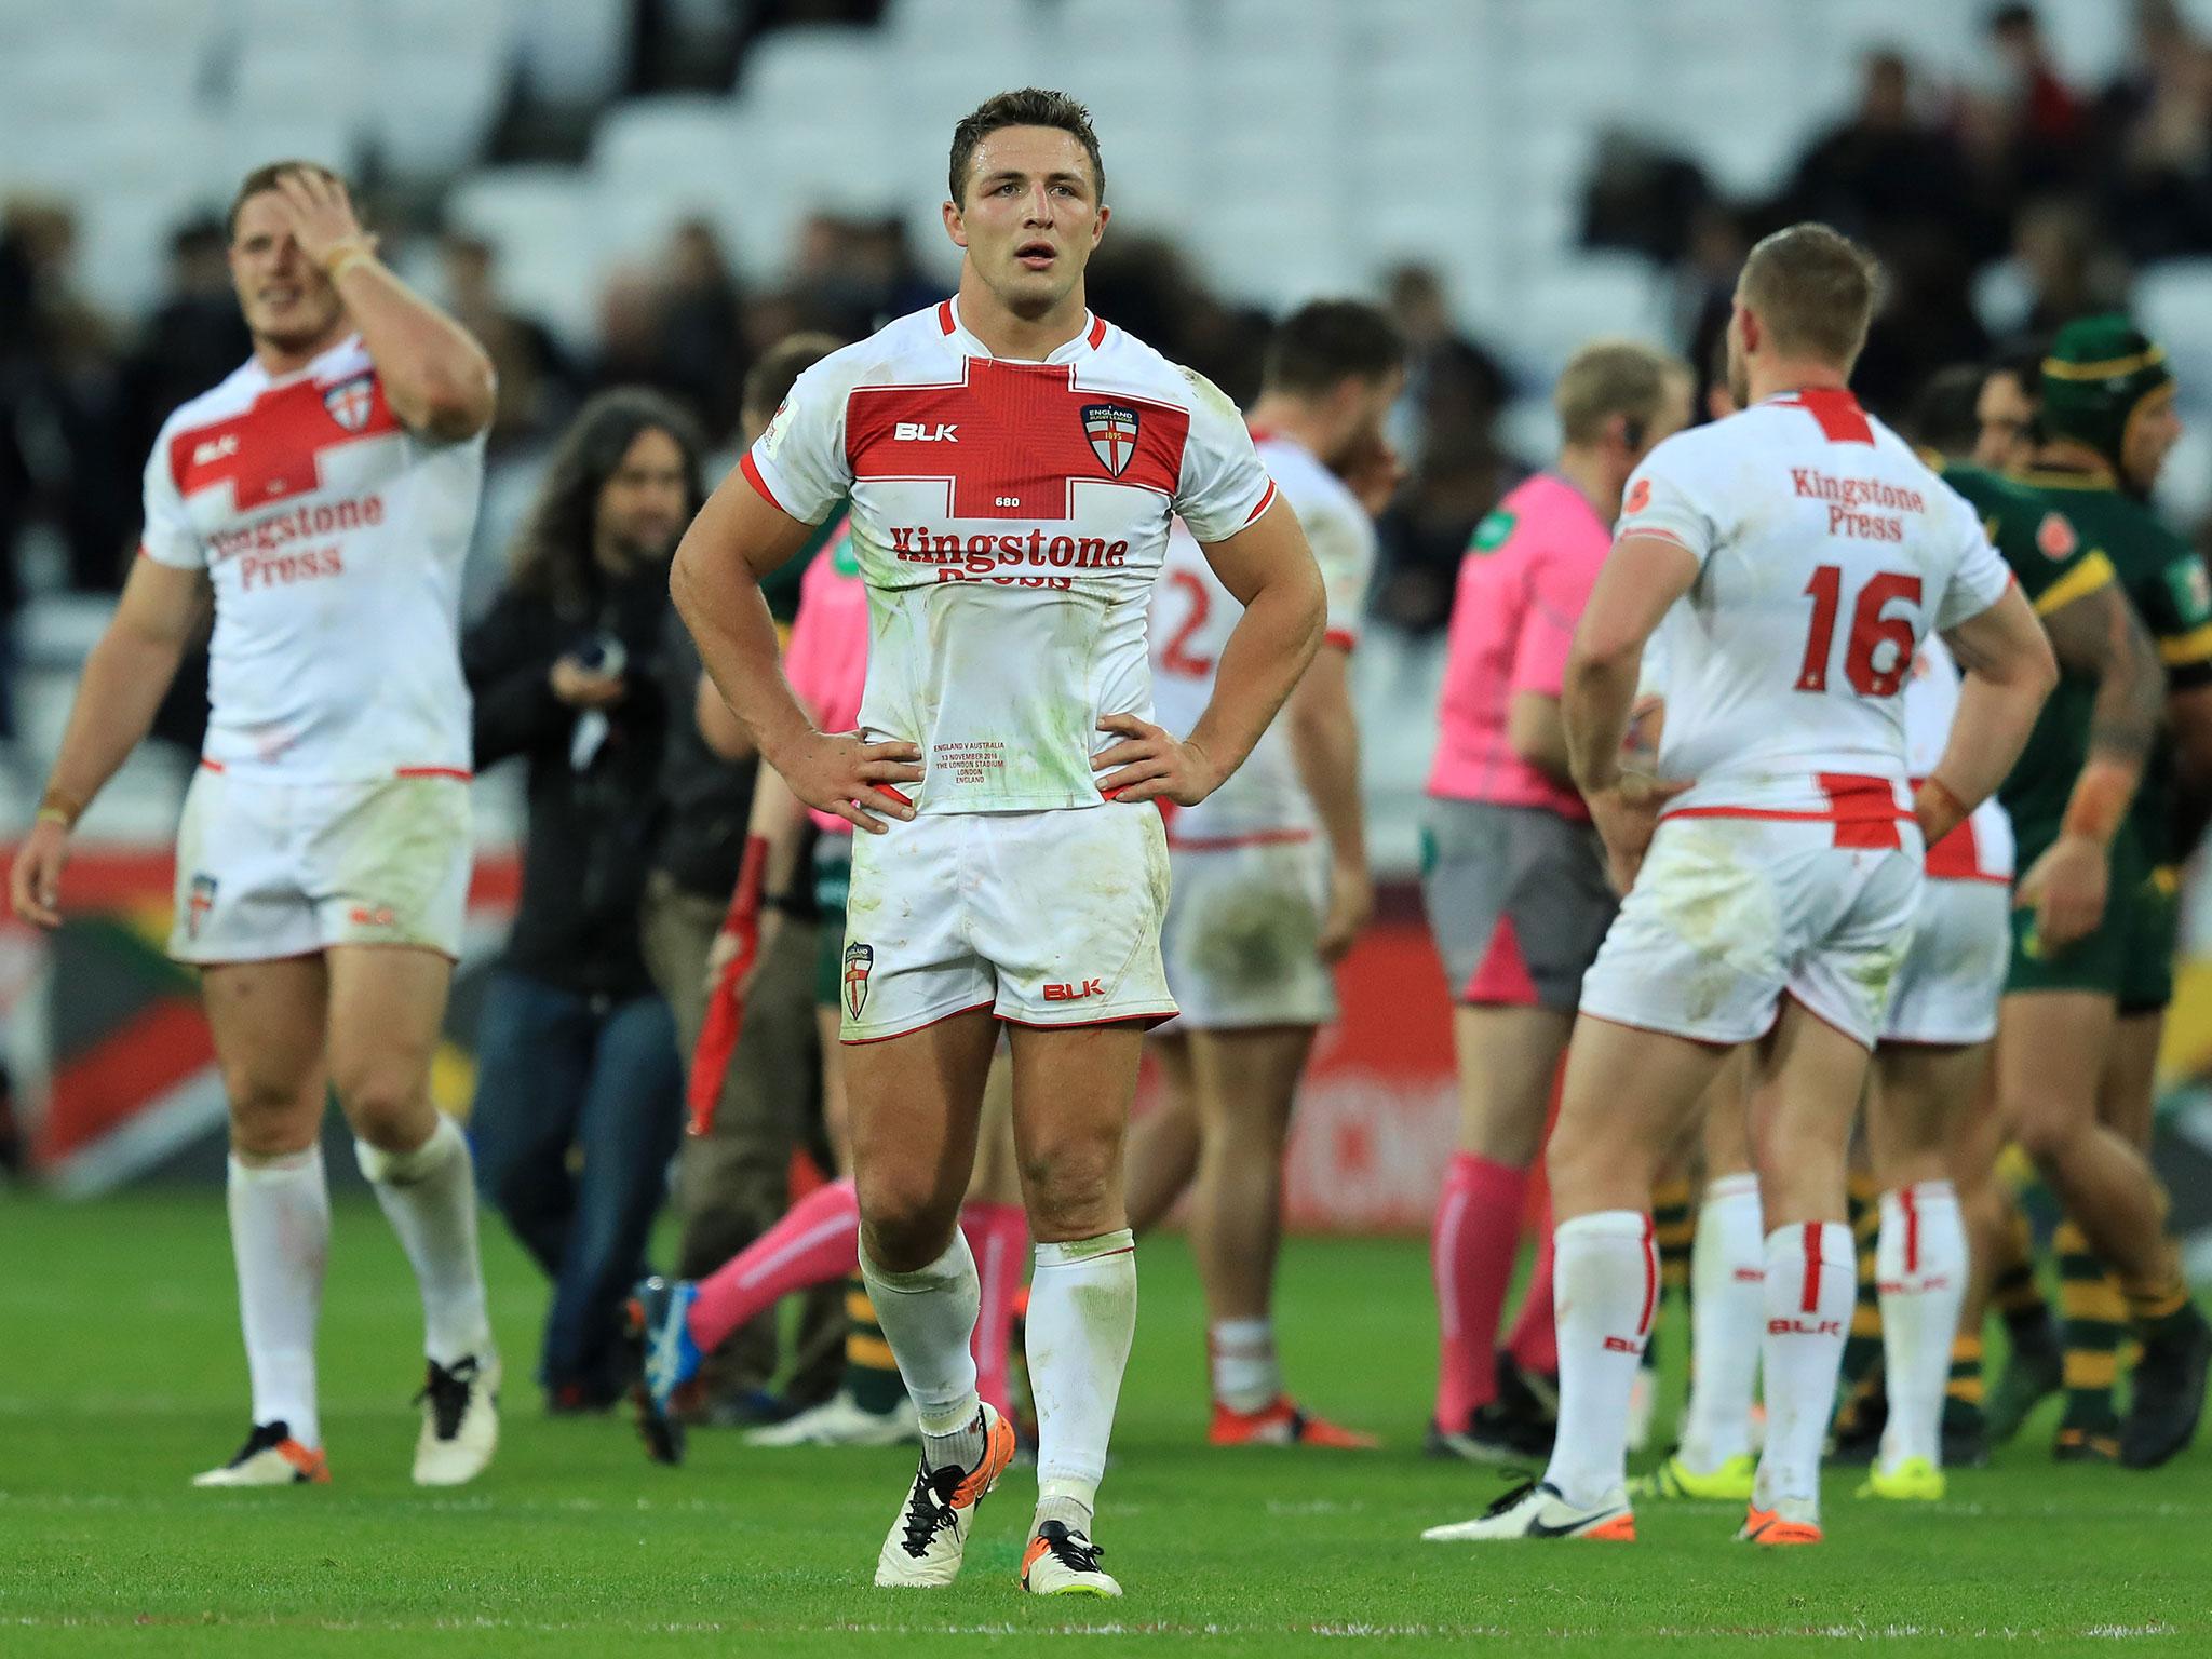
[[[1506,712],[1515,692],[1559,695],[1608,546],[1610,526],[1555,473],[1524,480],[1475,526],[1451,599],[1429,794],[1588,821],[1573,787],[1513,752]]]

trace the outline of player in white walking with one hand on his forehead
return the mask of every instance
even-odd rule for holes
[[[429,1097],[469,889],[456,633],[491,363],[376,259],[345,186],[307,161],[239,186],[230,276],[254,356],[161,427],[142,557],[86,659],[11,898],[60,922],[69,832],[146,734],[212,599],[170,953],[201,967],[230,1093],[252,1433],[197,1484],[330,1480],[314,1387],[327,1086],[422,1290],[414,1478],[449,1486],[491,1460],[500,1385],[469,1148]]]

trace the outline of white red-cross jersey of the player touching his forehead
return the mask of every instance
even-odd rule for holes
[[[358,336],[181,405],[139,551],[215,586],[206,763],[285,779],[469,772],[460,566],[484,438],[400,427]]]

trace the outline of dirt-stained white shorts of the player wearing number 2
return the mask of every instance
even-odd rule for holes
[[[1325,1026],[1336,980],[1316,953],[1329,907],[1321,836],[1170,847],[1168,989],[1172,1031]]]

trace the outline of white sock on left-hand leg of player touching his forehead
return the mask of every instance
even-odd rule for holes
[[[321,1146],[254,1164],[230,1155],[230,1252],[239,1263],[254,1422],[283,1422],[303,1447],[321,1447],[314,1323],[323,1312],[323,1263],[330,1259]]]

